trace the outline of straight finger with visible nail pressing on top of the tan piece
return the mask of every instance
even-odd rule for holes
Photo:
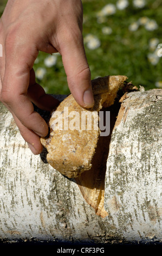
[[[65,44],[60,50],[70,92],[80,106],[91,108],[94,98],[82,35],[73,37]]]

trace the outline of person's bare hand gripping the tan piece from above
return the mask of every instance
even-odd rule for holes
[[[82,107],[94,105],[82,14],[80,0],[8,0],[1,17],[0,100],[35,155],[43,149],[40,136],[48,134],[48,126],[31,102],[48,111],[58,104],[35,81],[33,65],[39,51],[59,52],[75,100]]]

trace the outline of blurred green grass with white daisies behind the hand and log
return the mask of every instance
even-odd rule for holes
[[[0,0],[0,15],[6,3]],[[162,57],[158,56],[158,51],[162,54],[162,45],[158,48],[162,44],[162,0],[82,0],[82,4],[83,38],[92,79],[126,75],[145,90],[162,88]],[[34,69],[37,82],[47,93],[69,93],[59,53],[40,52]]]

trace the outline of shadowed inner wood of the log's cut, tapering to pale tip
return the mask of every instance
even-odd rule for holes
[[[110,111],[110,133],[108,136],[100,136],[95,154],[92,160],[92,168],[75,178],[80,188],[82,196],[86,202],[95,209],[96,215],[106,217],[108,214],[104,209],[104,193],[105,193],[105,173],[106,163],[108,159],[109,143],[111,142],[111,133],[113,131],[116,116],[120,108],[120,103],[115,102],[109,108],[102,108],[102,111]]]

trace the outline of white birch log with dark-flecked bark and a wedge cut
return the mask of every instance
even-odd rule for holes
[[[107,143],[104,218],[82,197],[76,180],[31,153],[0,105],[2,241],[162,240],[162,90],[131,92],[121,101],[119,113],[109,108],[112,132],[102,141]]]

